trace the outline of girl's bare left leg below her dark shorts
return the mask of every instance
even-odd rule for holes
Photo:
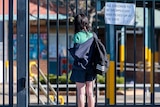
[[[85,101],[85,83],[76,82],[78,91],[78,107],[84,107]]]

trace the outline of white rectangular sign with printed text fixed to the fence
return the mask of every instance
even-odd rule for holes
[[[105,23],[114,25],[134,25],[135,4],[106,2]]]

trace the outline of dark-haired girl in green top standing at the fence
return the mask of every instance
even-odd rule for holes
[[[87,93],[88,107],[94,107],[94,83],[96,74],[93,72],[93,33],[89,28],[89,21],[84,14],[75,17],[74,47],[69,51],[74,58],[71,81],[76,83],[78,91],[78,107],[85,106]]]

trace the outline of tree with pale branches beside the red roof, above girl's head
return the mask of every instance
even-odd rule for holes
[[[58,1],[58,10],[60,14],[68,14],[70,21],[73,21],[74,16],[77,14],[76,12],[80,13],[88,13],[90,26],[95,21],[94,16],[96,15],[96,2],[95,0],[87,1],[87,0],[39,0],[39,5],[42,7],[47,8],[49,6],[50,10],[57,11],[57,1]],[[38,4],[38,0],[30,0],[30,2]],[[76,5],[77,3],[77,5]],[[86,6],[87,5],[87,6]],[[68,6],[68,9],[66,8]],[[76,7],[77,6],[77,7]],[[66,11],[67,9],[67,11]],[[87,9],[87,11],[86,11]],[[67,12],[67,13],[66,13]],[[97,11],[97,14],[104,14],[104,7],[101,11]]]

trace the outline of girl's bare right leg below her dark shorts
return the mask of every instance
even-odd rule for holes
[[[93,89],[94,89],[94,81],[87,81],[86,91],[87,91],[88,107],[94,107],[95,105]]]

